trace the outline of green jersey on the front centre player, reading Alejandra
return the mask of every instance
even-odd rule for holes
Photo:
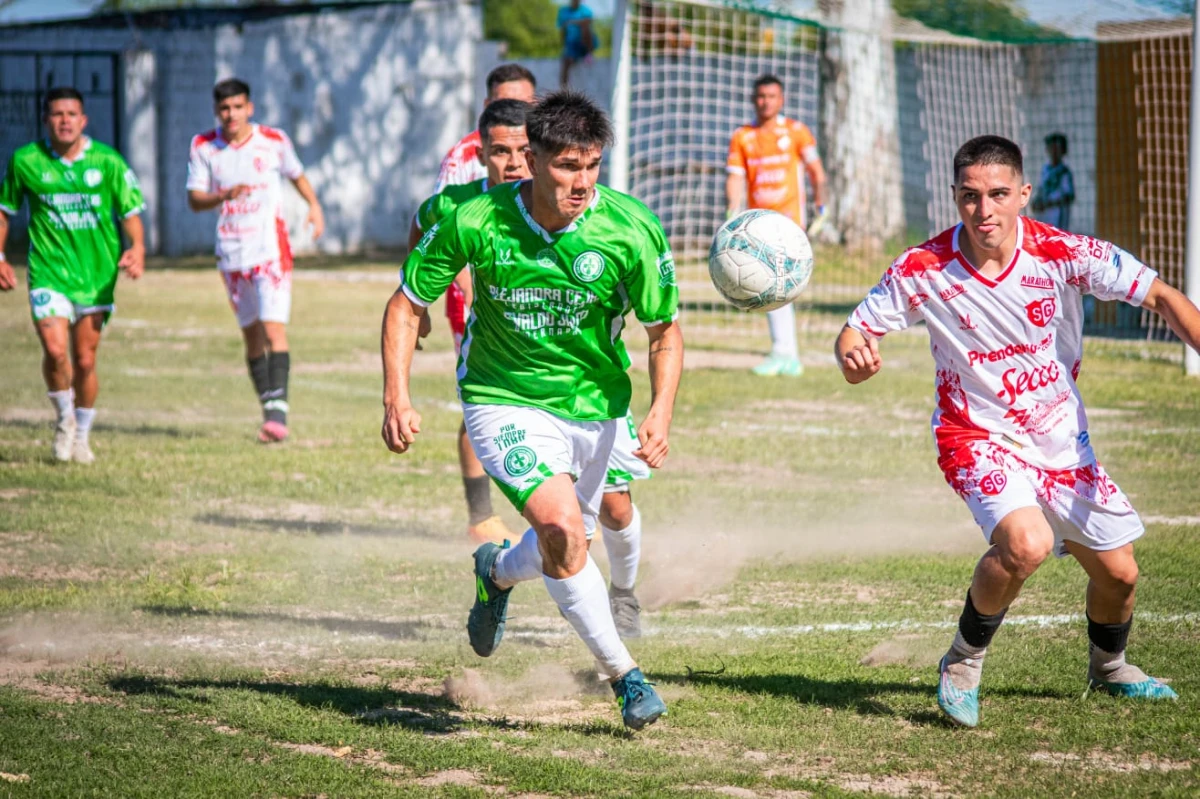
[[[662,226],[632,197],[596,186],[580,218],[550,233],[526,209],[522,185],[497,186],[431,227],[404,263],[404,293],[428,305],[472,264],[463,402],[619,419],[631,394],[625,311],[659,325],[679,305]]]

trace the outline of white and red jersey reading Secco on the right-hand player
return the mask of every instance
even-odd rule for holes
[[[1084,294],[1140,306],[1157,272],[1120,247],[1027,217],[995,280],[959,251],[955,226],[905,252],[847,324],[882,337],[924,320],[937,368],[940,458],[991,439],[1043,469],[1094,463],[1075,385]]]

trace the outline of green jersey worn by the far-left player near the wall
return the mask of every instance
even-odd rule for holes
[[[46,142],[19,148],[0,184],[0,211],[29,199],[29,288],[48,288],[79,305],[112,305],[122,220],[145,209],[133,170],[116,150],[85,139],[74,161]]]

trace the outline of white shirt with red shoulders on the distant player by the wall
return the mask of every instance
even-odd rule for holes
[[[283,221],[283,179],[296,180],[304,164],[287,133],[265,125],[251,126],[250,138],[232,144],[220,130],[192,139],[187,190],[220,192],[239,184],[250,192],[221,204],[217,218],[217,265],[223,271],[247,271],[280,262],[292,265],[288,227]]]

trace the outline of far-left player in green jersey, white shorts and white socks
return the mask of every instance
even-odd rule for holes
[[[116,308],[118,271],[137,280],[145,269],[139,216],[145,202],[125,158],[84,134],[83,95],[67,86],[50,89],[42,114],[46,140],[18,148],[0,184],[0,290],[17,286],[4,244],[8,217],[28,199],[29,304],[56,414],[54,458],[92,463],[96,349]],[[124,252],[114,212],[130,239]]]

